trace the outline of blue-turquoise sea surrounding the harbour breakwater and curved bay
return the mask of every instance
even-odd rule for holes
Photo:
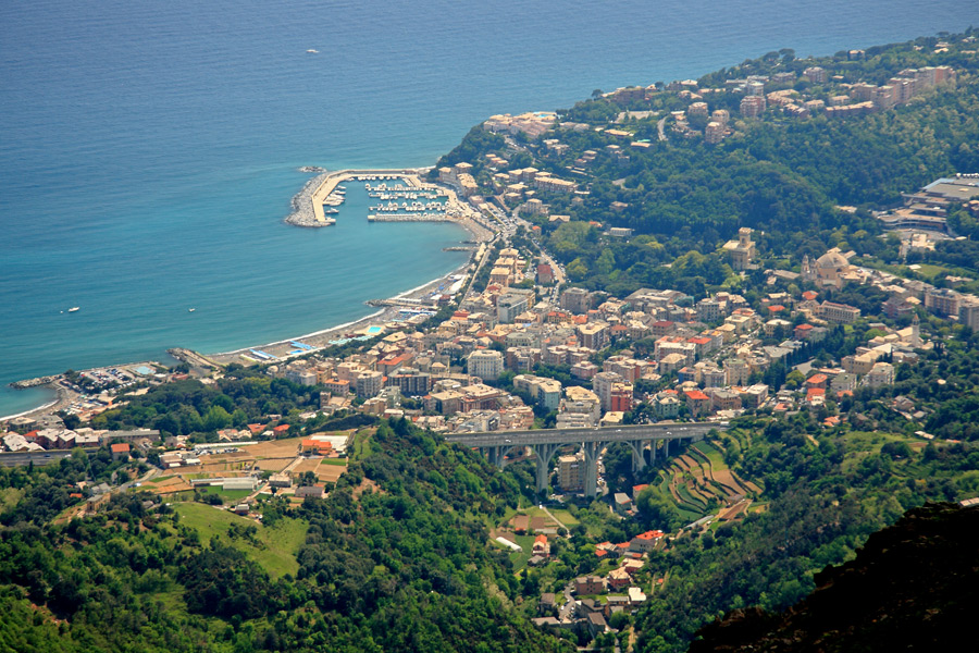
[[[336,227],[283,224],[300,165],[430,165],[494,113],[977,19],[945,0],[4,2],[0,416],[50,398],[11,381],[317,331],[464,260],[442,251],[458,227],[368,224],[355,202]]]

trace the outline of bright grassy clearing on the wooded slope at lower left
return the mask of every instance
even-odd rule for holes
[[[265,527],[257,525],[251,519],[203,504],[187,503],[174,507],[181,516],[181,523],[189,526],[200,533],[201,542],[209,542],[212,537],[218,535],[223,544],[234,546],[245,553],[260,564],[273,578],[286,574],[295,576],[299,570],[296,553],[306,541],[306,531],[309,528],[306,521],[284,517],[275,526]],[[227,528],[232,523],[240,527],[258,526],[256,538],[259,546],[243,538],[228,538]]]

